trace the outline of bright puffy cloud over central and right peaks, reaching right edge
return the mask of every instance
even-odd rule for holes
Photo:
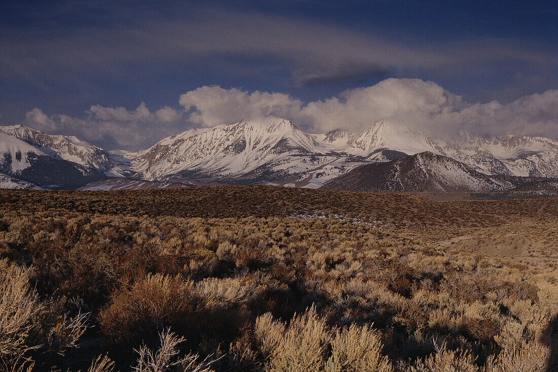
[[[480,134],[547,136],[558,139],[558,90],[532,94],[508,104],[469,103],[434,82],[386,79],[303,104],[280,93],[201,87],[180,97],[192,125],[211,127],[243,118],[286,117],[309,132],[352,131],[385,120],[431,135]]]

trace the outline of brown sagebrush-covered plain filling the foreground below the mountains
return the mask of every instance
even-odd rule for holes
[[[0,190],[0,210],[9,368],[558,369],[555,198]]]

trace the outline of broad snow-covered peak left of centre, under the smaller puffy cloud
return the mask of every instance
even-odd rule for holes
[[[315,141],[286,119],[254,118],[167,137],[130,156],[146,179],[184,171],[239,175],[287,155],[315,152]]]

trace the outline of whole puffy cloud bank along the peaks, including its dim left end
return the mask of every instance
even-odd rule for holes
[[[470,131],[492,135],[544,136],[558,140],[558,89],[531,94],[508,104],[469,103],[434,82],[386,79],[337,97],[304,103],[283,93],[200,87],[180,96],[182,109],[150,111],[145,104],[92,106],[84,118],[48,116],[35,108],[26,123],[45,132],[64,132],[108,148],[140,150],[192,127],[213,127],[257,116],[279,116],[307,132],[352,131],[385,120],[431,135]]]

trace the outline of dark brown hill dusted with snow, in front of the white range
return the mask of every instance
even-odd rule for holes
[[[513,188],[513,184],[447,156],[420,152],[388,163],[360,166],[323,188],[369,192],[498,192]]]

